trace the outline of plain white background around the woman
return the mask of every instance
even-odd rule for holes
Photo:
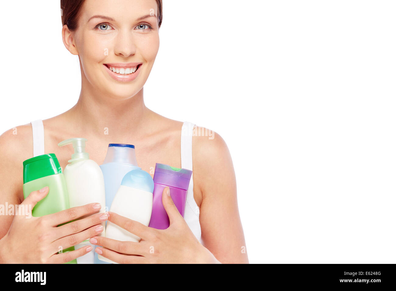
[[[394,1],[164,0],[148,108],[230,149],[251,263],[395,263]],[[59,1],[2,3],[1,133],[72,107]]]

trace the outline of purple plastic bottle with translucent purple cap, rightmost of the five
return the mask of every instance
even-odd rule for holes
[[[184,217],[187,190],[190,184],[192,171],[179,169],[165,164],[155,164],[154,191],[152,197],[152,211],[149,227],[166,229],[169,227],[169,217],[162,205],[162,191],[169,186],[173,202]]]

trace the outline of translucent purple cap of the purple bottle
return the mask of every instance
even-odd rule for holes
[[[156,163],[153,180],[156,184],[188,190],[191,175],[192,171],[190,170]]]

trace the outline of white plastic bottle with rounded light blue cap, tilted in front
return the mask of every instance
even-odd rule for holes
[[[143,170],[132,170],[122,179],[110,211],[148,226],[151,217],[153,190],[154,182],[150,174]],[[140,241],[138,236],[111,221],[107,222],[106,238],[131,242]],[[99,260],[112,262],[101,255],[98,257]]]

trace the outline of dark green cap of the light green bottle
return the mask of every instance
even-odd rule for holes
[[[62,173],[61,166],[55,154],[43,154],[23,162],[23,184],[60,173]]]

